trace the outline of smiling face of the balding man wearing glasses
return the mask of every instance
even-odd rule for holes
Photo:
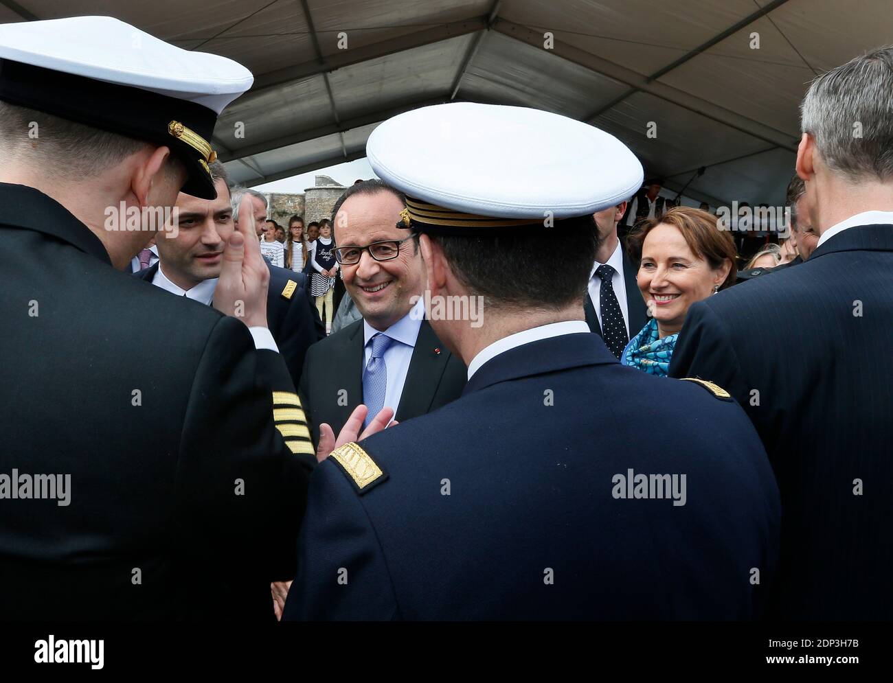
[[[396,227],[404,206],[390,192],[347,197],[335,217],[338,248],[369,246],[373,242],[399,241],[409,230]],[[347,293],[373,328],[388,329],[412,309],[412,296],[421,296],[424,265],[412,239],[399,246],[389,261],[375,261],[363,251],[360,262],[341,265]]]

